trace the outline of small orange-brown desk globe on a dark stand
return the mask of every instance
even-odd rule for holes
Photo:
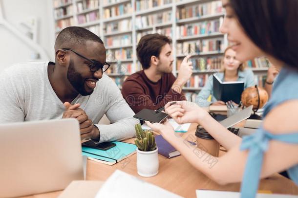
[[[244,107],[249,107],[253,105],[254,114],[251,115],[249,119],[261,120],[261,116],[256,115],[255,112],[262,108],[268,101],[268,93],[264,88],[253,87],[246,88],[241,94],[241,102]]]

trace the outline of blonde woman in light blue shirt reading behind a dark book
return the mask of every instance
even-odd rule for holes
[[[215,73],[219,79],[223,82],[227,81],[242,81],[244,82],[244,89],[254,86],[254,73],[248,68],[244,68],[243,64],[236,58],[236,52],[231,48],[227,47],[224,51],[224,57],[222,61],[222,68],[219,72]],[[207,101],[209,96],[211,102]],[[196,104],[200,107],[206,107],[209,105],[225,105],[223,101],[216,100],[213,95],[213,75],[210,75],[204,88],[199,92],[195,99]]]

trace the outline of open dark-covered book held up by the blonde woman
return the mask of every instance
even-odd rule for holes
[[[244,82],[231,81],[222,82],[216,74],[213,74],[213,95],[216,100],[228,102],[230,100],[239,104],[241,100],[241,94],[244,90]]]

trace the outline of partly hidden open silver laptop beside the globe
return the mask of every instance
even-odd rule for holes
[[[253,106],[249,106],[245,108],[244,110],[241,110],[234,115],[220,121],[219,123],[222,124],[225,128],[230,128],[234,126],[235,124],[249,118],[251,116],[253,110]],[[255,132],[255,129],[250,128],[232,128],[230,129],[231,132],[234,132],[236,135],[242,137],[243,135],[250,135]]]

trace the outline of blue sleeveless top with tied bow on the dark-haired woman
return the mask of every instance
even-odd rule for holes
[[[275,80],[272,96],[264,108],[263,117],[277,105],[291,99],[298,99],[298,71],[283,67]],[[298,144],[298,132],[272,134],[261,127],[254,134],[243,137],[240,150],[248,150],[249,154],[241,184],[241,198],[254,198],[256,196],[263,155],[268,149],[270,140]],[[298,164],[291,167],[287,172],[298,185]]]

